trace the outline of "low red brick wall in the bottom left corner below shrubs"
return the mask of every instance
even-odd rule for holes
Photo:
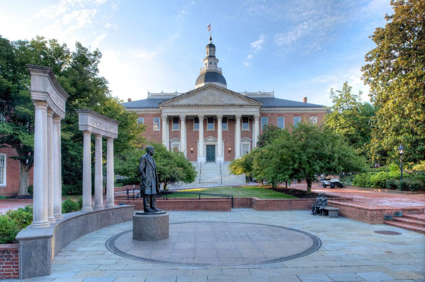
[[[0,244],[0,278],[19,278],[18,244]]]

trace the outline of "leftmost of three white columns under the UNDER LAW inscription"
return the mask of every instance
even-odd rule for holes
[[[82,158],[82,211],[92,211],[91,207],[91,132],[83,131]]]

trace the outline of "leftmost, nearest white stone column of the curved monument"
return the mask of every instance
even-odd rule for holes
[[[34,101],[33,228],[50,226],[47,219],[47,105],[46,102]]]

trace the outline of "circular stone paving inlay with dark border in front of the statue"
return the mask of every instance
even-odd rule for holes
[[[170,237],[158,241],[133,240],[131,231],[111,237],[108,250],[129,259],[172,265],[267,264],[306,256],[322,245],[313,234],[259,223],[170,223]]]

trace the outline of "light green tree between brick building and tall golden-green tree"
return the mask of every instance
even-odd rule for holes
[[[361,102],[362,92],[351,93],[352,87],[344,82],[342,90],[331,89],[331,113],[325,118],[325,124],[335,134],[367,156],[366,145],[370,142],[370,120],[374,116],[374,107]]]

